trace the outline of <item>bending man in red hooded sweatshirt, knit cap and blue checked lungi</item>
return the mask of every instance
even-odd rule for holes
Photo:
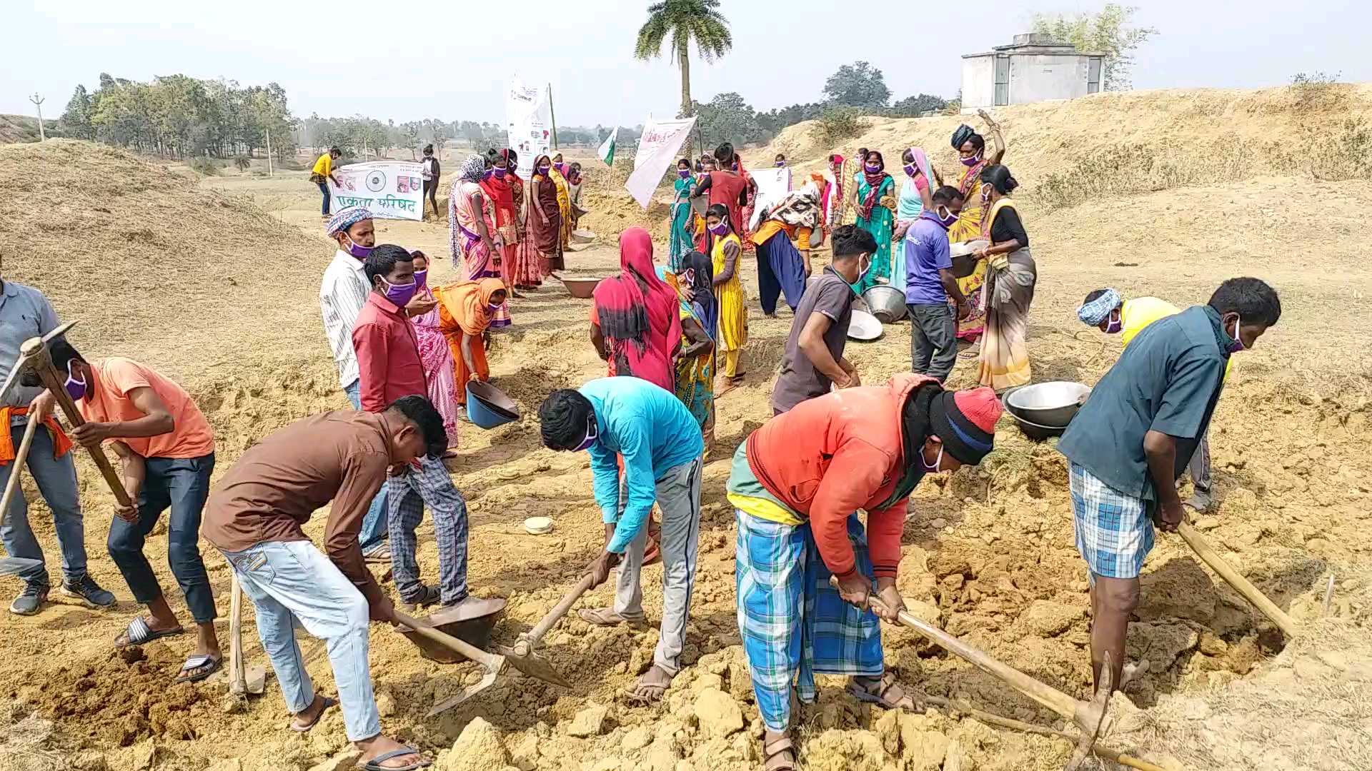
[[[897,620],[907,499],[925,473],[981,462],[999,417],[991,388],[944,391],[932,377],[897,375],[807,399],[734,453],[738,628],[767,728],[767,768],[794,767],[792,680],[807,704],[820,674],[849,675],[848,691],[862,701],[915,708],[885,671],[867,600],[875,583],[886,620]]]

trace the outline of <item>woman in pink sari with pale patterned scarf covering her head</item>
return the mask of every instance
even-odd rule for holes
[[[504,243],[495,230],[495,203],[482,189],[484,171],[486,159],[480,155],[466,156],[447,198],[449,247],[453,251],[453,268],[462,281],[502,278]],[[505,300],[495,313],[491,328],[509,324],[509,300]]]

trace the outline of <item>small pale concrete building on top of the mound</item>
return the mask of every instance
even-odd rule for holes
[[[962,58],[962,111],[1100,91],[1102,54],[1081,54],[1048,34],[1017,34],[1011,45]]]

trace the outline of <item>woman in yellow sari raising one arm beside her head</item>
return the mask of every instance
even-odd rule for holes
[[[991,220],[989,191],[981,181],[981,173],[992,163],[1000,163],[1006,155],[1006,140],[1000,134],[1000,125],[991,119],[985,110],[978,110],[981,119],[991,129],[991,139],[996,143],[995,152],[986,158],[986,140],[974,132],[971,126],[962,125],[952,134],[952,147],[958,151],[962,171],[956,174],[958,189],[962,192],[962,214],[952,228],[948,228],[948,243],[973,241],[986,237],[986,228]],[[958,278],[958,288],[962,296],[967,298],[971,306],[971,316],[958,322],[958,339],[973,343],[981,336],[985,328],[985,317],[978,310],[981,307],[981,287],[986,281],[986,262],[977,261],[977,269],[966,278]]]

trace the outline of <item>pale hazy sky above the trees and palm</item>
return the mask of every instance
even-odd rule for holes
[[[240,84],[280,82],[299,117],[436,117],[504,121],[502,84],[553,84],[557,122],[641,122],[672,115],[679,74],[635,62],[648,0],[376,3],[332,0],[12,0],[0,47],[0,112],[32,114],[27,96],[60,115],[80,82],[102,71],[150,80],[184,73]],[[1126,0],[1128,1],[1128,0]],[[1372,4],[1365,0],[1136,0],[1159,34],[1137,54],[1135,88],[1268,86],[1298,71],[1372,80]],[[908,3],[724,0],[734,51],[693,62],[701,102],[737,91],[759,110],[812,102],[840,64],[866,59],[900,99],[958,92],[962,54],[1007,44],[1029,27],[1026,7],[1098,3],[1010,0]],[[413,8],[406,14],[401,8]],[[578,11],[578,8],[582,8]],[[965,12],[963,8],[973,8]],[[1227,10],[1229,8],[1229,10]],[[497,15],[501,29],[493,25]],[[867,40],[879,30],[879,44]],[[842,34],[842,41],[836,43]]]

